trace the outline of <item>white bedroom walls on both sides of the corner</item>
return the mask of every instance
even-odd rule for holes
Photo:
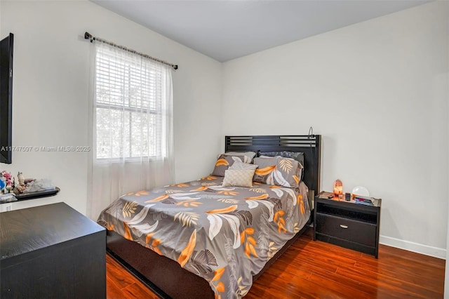
[[[368,187],[384,200],[382,243],[445,256],[447,3],[220,65],[88,1],[1,1],[0,36],[15,34],[14,145],[88,144],[85,31],[180,65],[177,181],[208,173],[225,134],[305,134],[314,126],[323,135],[323,189],[336,178],[347,191]],[[86,212],[87,154],[14,152],[13,164],[0,168],[52,178],[62,189],[14,208],[65,201]]]

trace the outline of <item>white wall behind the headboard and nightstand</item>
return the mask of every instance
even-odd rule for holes
[[[321,186],[382,202],[381,243],[445,257],[448,3],[226,62],[223,133],[323,135]]]

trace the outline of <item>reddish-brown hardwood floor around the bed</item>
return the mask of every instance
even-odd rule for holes
[[[321,241],[311,229],[245,298],[443,298],[445,261],[380,245],[379,259]],[[107,256],[107,298],[158,298]]]

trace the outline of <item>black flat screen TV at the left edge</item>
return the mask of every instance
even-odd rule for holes
[[[13,44],[12,33],[0,41],[0,163],[6,164],[13,153]]]

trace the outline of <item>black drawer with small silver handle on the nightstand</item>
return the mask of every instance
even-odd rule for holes
[[[376,226],[370,223],[316,213],[316,232],[340,239],[376,246]]]

